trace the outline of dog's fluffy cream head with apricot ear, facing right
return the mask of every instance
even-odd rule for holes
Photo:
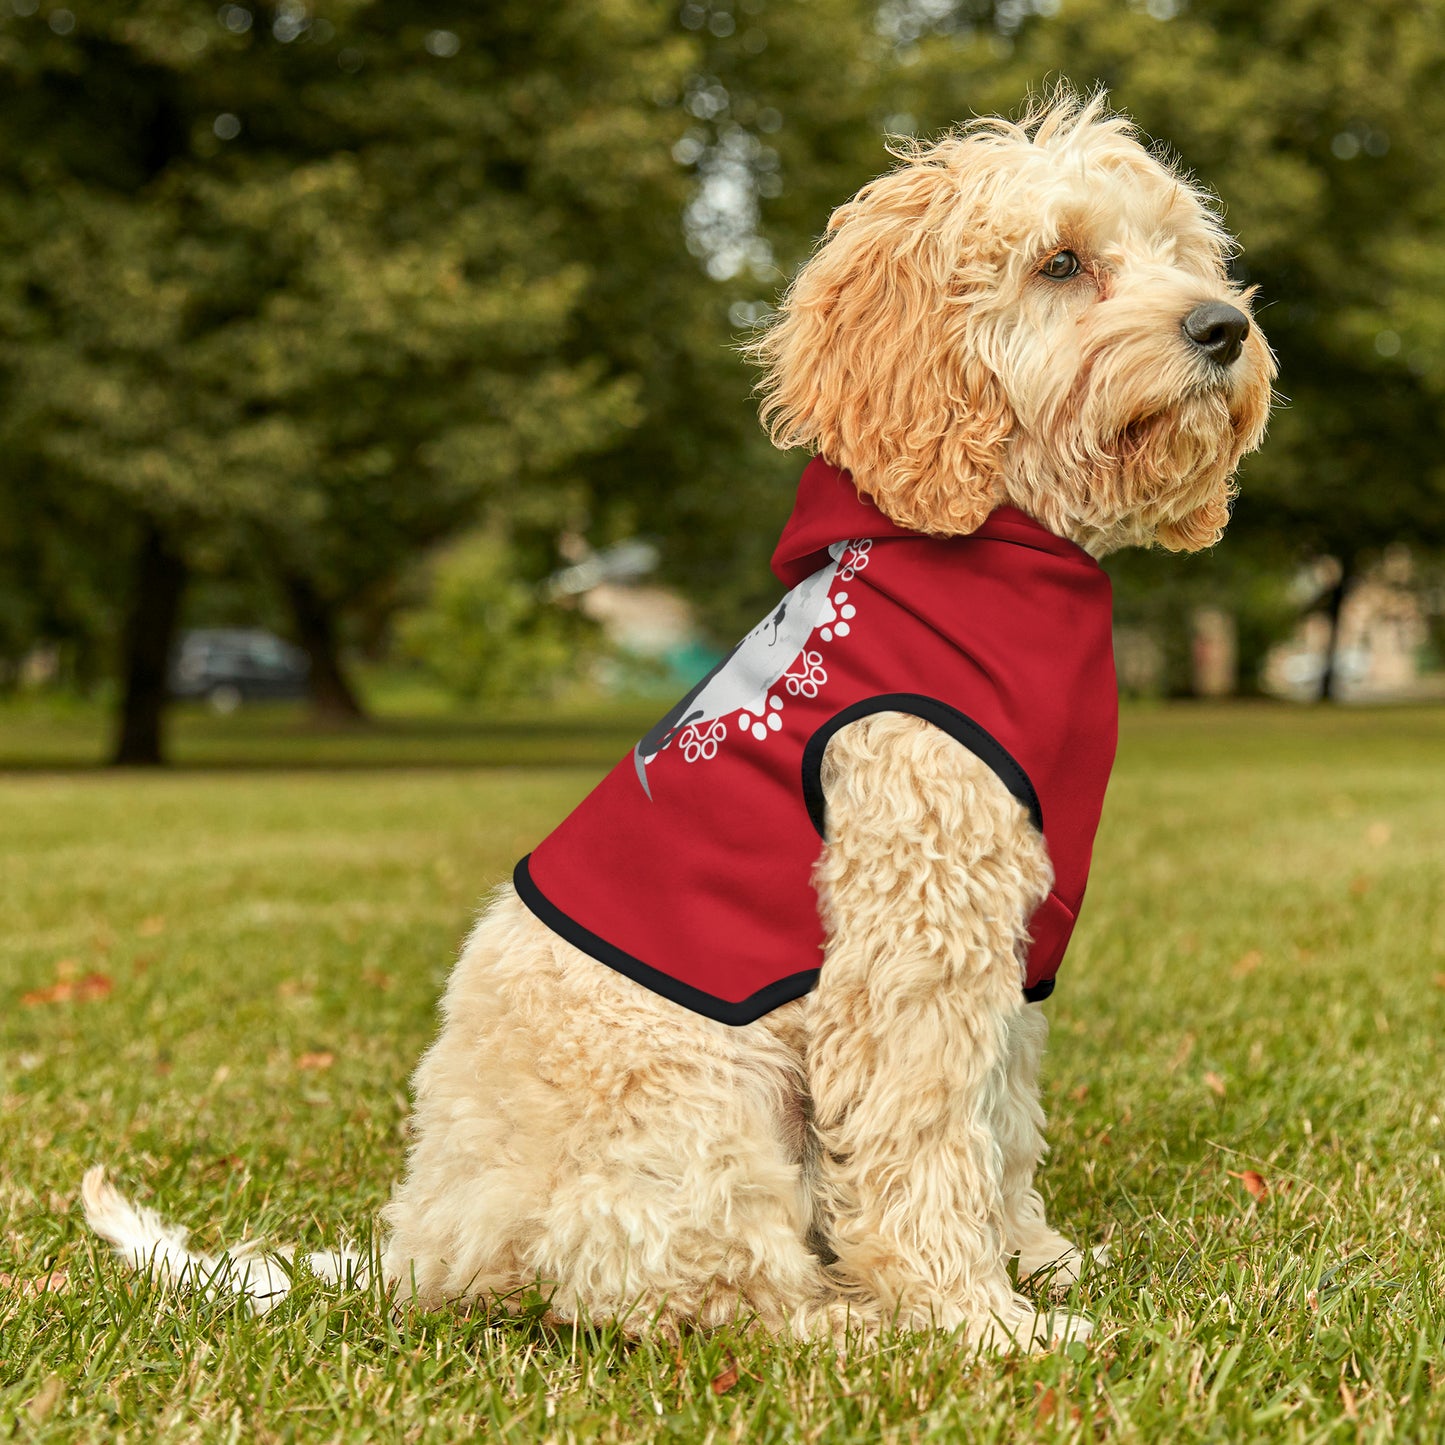
[[[1208,198],[1103,97],[900,155],[753,347],[775,442],[922,532],[1007,501],[1097,553],[1214,543],[1274,361]]]

